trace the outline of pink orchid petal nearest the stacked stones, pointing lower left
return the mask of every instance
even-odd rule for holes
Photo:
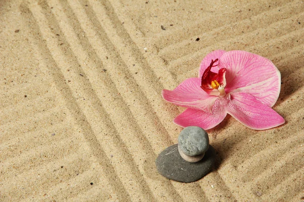
[[[178,115],[173,122],[181,127],[198,126],[208,130],[218,125],[226,115],[227,113],[225,112],[224,106],[221,105],[220,99],[217,99],[212,107],[212,113],[195,109],[186,109],[183,113]]]

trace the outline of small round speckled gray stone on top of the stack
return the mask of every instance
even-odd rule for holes
[[[189,126],[182,129],[178,136],[178,144],[187,156],[204,154],[209,147],[208,133],[200,127]]]

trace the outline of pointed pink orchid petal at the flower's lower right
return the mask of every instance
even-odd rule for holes
[[[264,130],[285,123],[283,117],[247,93],[234,93],[226,106],[226,112],[248,128]]]

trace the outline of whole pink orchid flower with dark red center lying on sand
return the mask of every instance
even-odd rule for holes
[[[186,79],[172,91],[164,89],[162,95],[187,108],[173,121],[181,127],[208,130],[228,113],[251,129],[264,130],[285,122],[271,108],[280,88],[281,74],[270,60],[245,51],[217,50],[203,59],[198,78]]]

